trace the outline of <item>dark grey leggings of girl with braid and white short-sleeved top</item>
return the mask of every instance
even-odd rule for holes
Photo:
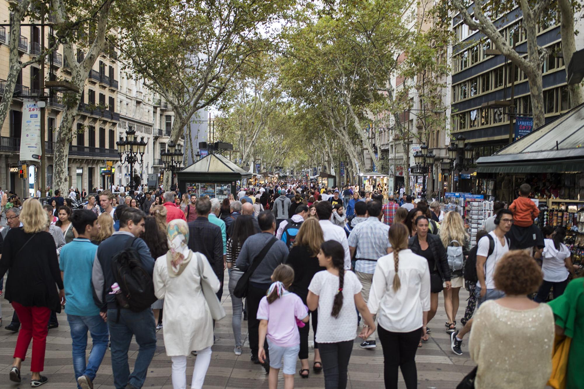
[[[345,389],[353,341],[321,343],[318,350],[321,352],[322,370],[325,373],[325,389]]]

